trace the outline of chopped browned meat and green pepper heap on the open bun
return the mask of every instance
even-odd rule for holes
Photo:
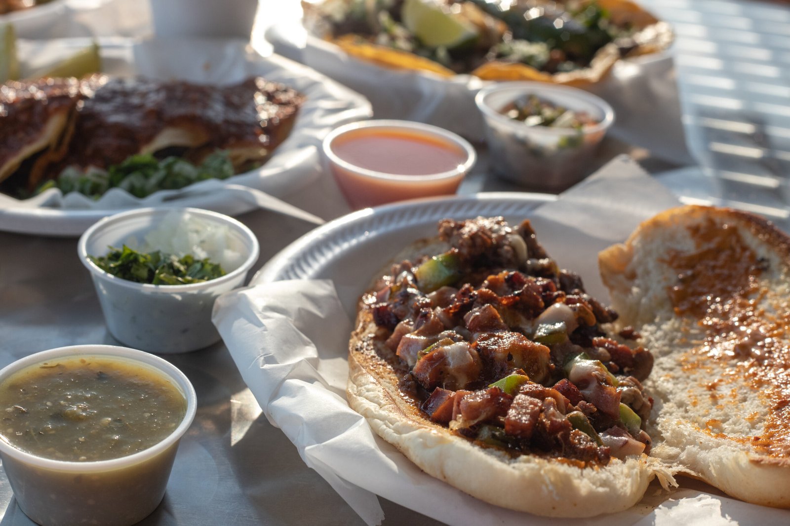
[[[653,356],[606,332],[615,311],[559,269],[529,221],[446,219],[439,237],[448,252],[393,265],[363,298],[419,409],[483,446],[600,464],[649,451],[640,381]]]

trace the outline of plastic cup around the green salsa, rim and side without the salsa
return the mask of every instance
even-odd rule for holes
[[[148,367],[186,400],[186,414],[167,438],[108,461],[55,461],[17,450],[0,438],[0,459],[22,511],[43,526],[128,526],[148,516],[164,497],[179,440],[194,420],[198,398],[177,367],[149,353],[115,345],[72,345],[25,356],[0,370],[0,384],[25,367],[63,358],[106,356]]]

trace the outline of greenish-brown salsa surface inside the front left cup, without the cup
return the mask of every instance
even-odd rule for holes
[[[186,415],[164,375],[108,356],[51,360],[0,384],[0,436],[56,461],[106,461],[147,450]]]

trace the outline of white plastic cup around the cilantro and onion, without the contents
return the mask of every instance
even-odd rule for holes
[[[121,248],[130,239],[141,243],[174,211],[228,227],[228,244],[240,252],[239,267],[224,268],[228,274],[190,285],[149,285],[117,278],[93,263],[88,256],[104,256],[108,247]],[[219,341],[211,323],[214,300],[243,285],[258,259],[258,239],[242,223],[227,215],[197,208],[142,208],[103,218],[82,234],[77,253],[90,271],[93,285],[110,333],[124,345],[152,353],[186,353]],[[209,258],[214,263],[219,260]]]

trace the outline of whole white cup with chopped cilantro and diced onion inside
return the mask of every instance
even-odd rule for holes
[[[110,333],[152,353],[216,343],[214,300],[244,284],[258,240],[227,215],[194,208],[143,208],[103,218],[80,238]]]

